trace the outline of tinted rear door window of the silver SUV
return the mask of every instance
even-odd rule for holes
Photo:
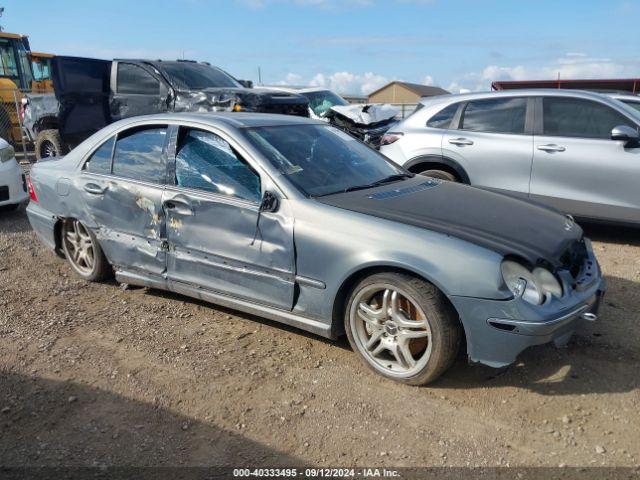
[[[524,133],[526,98],[474,100],[462,114],[462,129],[488,133]]]

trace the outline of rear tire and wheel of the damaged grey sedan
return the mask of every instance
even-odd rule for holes
[[[74,242],[70,240],[70,236],[73,232],[82,230],[82,236],[77,235],[78,244],[83,243],[87,246],[90,243],[92,251],[91,262],[84,261],[74,255],[79,248]],[[100,282],[106,280],[113,275],[113,270],[107,257],[104,255],[96,236],[91,230],[85,227],[82,222],[75,219],[66,219],[62,224],[60,235],[60,243],[62,244],[62,251],[64,252],[71,269],[81,278],[89,282]]]

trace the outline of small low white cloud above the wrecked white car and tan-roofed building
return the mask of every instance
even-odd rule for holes
[[[309,85],[312,87],[322,87],[343,94],[368,95],[390,81],[387,77],[373,72],[366,72],[364,74],[335,72],[332,74],[317,73],[307,79],[296,73],[289,73],[283,80],[277,83],[278,85]]]

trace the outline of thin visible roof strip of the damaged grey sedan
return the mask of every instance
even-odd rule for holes
[[[138,123],[141,120],[148,122],[197,122],[211,126],[231,126],[235,128],[247,127],[272,127],[283,125],[326,125],[326,122],[312,120],[307,117],[295,115],[278,115],[272,113],[254,112],[184,112],[184,113],[159,113],[155,115],[141,115],[120,120],[119,127]]]

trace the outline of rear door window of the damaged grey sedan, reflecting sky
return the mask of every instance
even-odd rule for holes
[[[164,183],[162,155],[166,127],[128,130],[118,134],[113,156],[113,174],[151,183]]]

